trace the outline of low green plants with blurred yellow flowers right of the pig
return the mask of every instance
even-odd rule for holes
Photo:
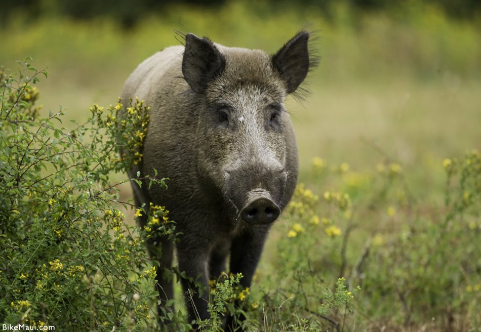
[[[314,158],[251,289],[259,329],[478,330],[481,154],[443,165],[444,205],[416,197],[397,162]]]

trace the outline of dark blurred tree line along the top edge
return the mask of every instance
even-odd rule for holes
[[[5,25],[21,13],[31,19],[45,15],[66,16],[76,20],[89,20],[97,17],[110,17],[124,28],[129,29],[145,15],[162,14],[174,4],[195,5],[202,7],[222,6],[235,0],[16,0],[0,1],[0,24]],[[481,14],[480,0],[341,0],[359,14],[367,11],[397,11],[416,5],[436,6],[447,16],[455,19],[473,19]],[[295,4],[290,0],[266,0],[272,10],[286,7],[318,8],[327,18],[332,5],[338,0],[298,0]]]

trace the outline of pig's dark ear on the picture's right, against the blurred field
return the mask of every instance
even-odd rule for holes
[[[309,71],[309,32],[301,31],[272,57],[272,63],[287,86],[287,93],[296,91]]]

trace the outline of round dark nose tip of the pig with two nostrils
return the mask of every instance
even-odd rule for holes
[[[279,217],[280,209],[263,189],[254,189],[248,193],[247,203],[240,211],[240,218],[253,225],[267,225]]]

